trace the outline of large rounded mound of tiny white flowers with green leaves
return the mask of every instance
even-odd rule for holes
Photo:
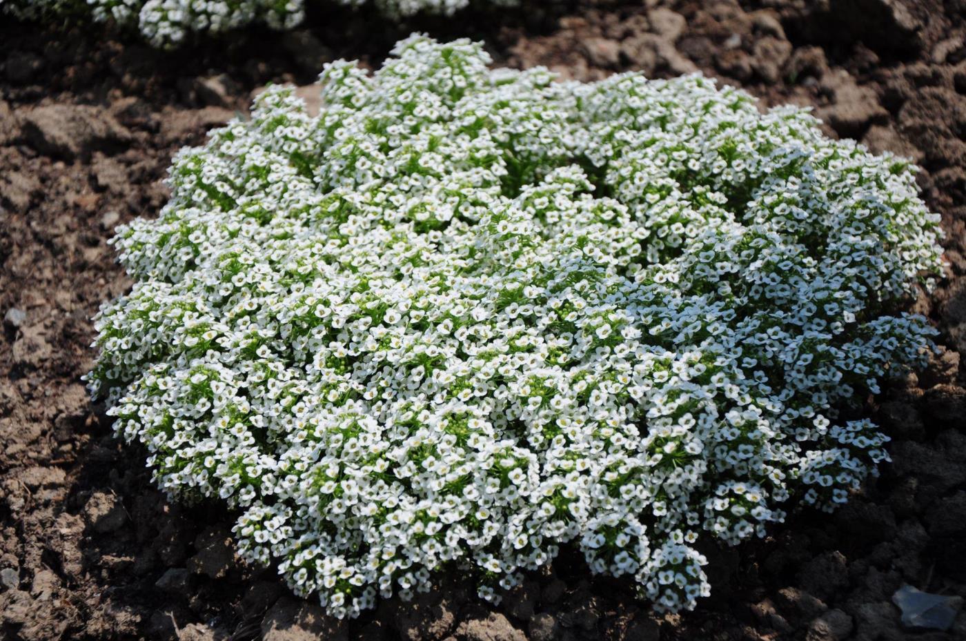
[[[691,76],[596,84],[400,42],[180,153],[115,242],[89,376],[180,498],[336,616],[579,546],[659,609],[696,546],[831,510],[887,459],[839,410],[923,364],[914,170]],[[849,412],[854,413],[854,412]]]

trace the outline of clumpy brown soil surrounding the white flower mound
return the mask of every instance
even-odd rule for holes
[[[539,4],[539,3],[532,3]],[[830,9],[831,7],[831,9]],[[582,0],[553,10],[392,26],[320,10],[307,28],[158,54],[91,28],[0,25],[0,639],[364,638],[440,641],[966,638],[910,632],[908,583],[966,597],[966,2]],[[522,25],[522,26],[521,26]],[[311,81],[334,57],[377,64],[412,29],[486,38],[499,64],[584,80],[700,70],[766,104],[813,105],[832,135],[923,166],[949,278],[916,303],[946,351],[869,402],[894,462],[835,516],[708,550],[713,596],[655,617],[578,556],[488,608],[449,577],[414,603],[338,624],[241,566],[216,505],[172,505],[80,381],[90,318],[128,281],[106,244],[154,215],[172,153],[268,81]]]

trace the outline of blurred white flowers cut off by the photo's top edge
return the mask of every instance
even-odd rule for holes
[[[332,0],[357,7],[367,0]],[[471,0],[371,0],[389,18],[414,14],[452,15]],[[519,0],[487,0],[508,7]],[[192,33],[223,33],[248,24],[272,29],[291,29],[304,18],[303,0],[0,0],[0,10],[17,17],[38,19],[45,15],[91,15],[99,22],[136,27],[158,47],[177,46]]]

